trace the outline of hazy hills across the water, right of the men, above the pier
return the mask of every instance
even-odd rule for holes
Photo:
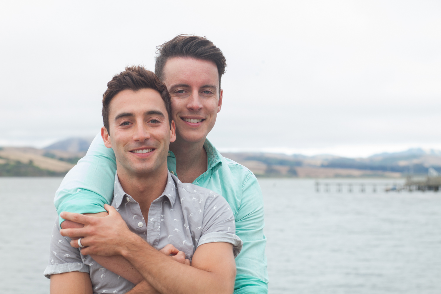
[[[409,149],[380,153],[368,158],[333,155],[303,156],[274,153],[222,153],[248,167],[255,175],[280,177],[400,177],[427,175],[429,168],[441,172],[441,151]]]

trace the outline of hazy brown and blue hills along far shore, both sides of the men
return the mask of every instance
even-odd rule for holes
[[[44,149],[0,148],[0,176],[65,175],[86,151],[93,138],[68,138]],[[367,158],[329,154],[305,156],[277,153],[222,153],[263,177],[402,177],[441,173],[441,151],[414,148],[396,153],[379,153]]]

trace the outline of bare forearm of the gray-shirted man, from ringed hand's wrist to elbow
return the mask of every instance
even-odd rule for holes
[[[135,234],[125,247],[122,256],[160,293],[232,293],[229,283],[216,273],[176,262]],[[234,276],[232,280],[234,284]]]

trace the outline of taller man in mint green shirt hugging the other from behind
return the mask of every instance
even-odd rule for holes
[[[203,37],[179,35],[159,47],[155,73],[168,88],[176,124],[168,169],[181,182],[213,190],[228,201],[236,234],[243,240],[235,259],[234,293],[267,293],[260,186],[250,170],[221,156],[206,139],[221,110],[225,66],[221,50]],[[57,212],[104,213],[104,204],[112,201],[115,171],[115,154],[98,135],[57,190]],[[70,225],[68,222],[60,219],[61,227]]]

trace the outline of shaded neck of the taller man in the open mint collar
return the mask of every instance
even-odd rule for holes
[[[170,143],[170,151],[176,156],[176,172],[181,182],[193,182],[207,170],[205,138],[199,142],[188,142],[181,138]]]

